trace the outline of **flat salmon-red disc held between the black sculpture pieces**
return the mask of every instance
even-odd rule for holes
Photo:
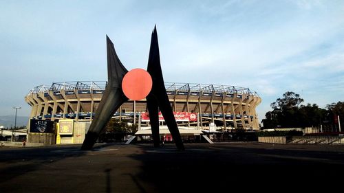
[[[144,69],[132,69],[122,80],[122,90],[131,100],[142,100],[147,97],[152,86],[151,75]]]

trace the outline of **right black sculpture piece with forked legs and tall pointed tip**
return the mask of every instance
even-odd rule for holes
[[[164,120],[170,133],[175,141],[175,145],[179,150],[184,150],[184,144],[182,137],[180,136],[177,122],[167,96],[166,89],[164,86],[164,78],[162,77],[162,70],[160,65],[160,54],[158,44],[158,34],[156,27],[151,34],[151,48],[149,50],[149,59],[147,71],[151,74],[153,80],[153,86],[151,92],[147,96],[147,108],[149,111],[149,120],[151,120],[151,132],[153,136],[153,143],[155,147],[160,146],[159,137],[159,117],[158,112],[161,111],[164,116]]]

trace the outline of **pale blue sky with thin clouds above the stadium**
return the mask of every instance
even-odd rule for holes
[[[246,87],[270,104],[344,101],[344,1],[0,1],[0,115],[52,82],[107,80],[106,35],[147,68],[157,26],[165,82]]]

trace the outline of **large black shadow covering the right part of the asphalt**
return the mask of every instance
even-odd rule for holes
[[[140,149],[144,153],[131,155],[142,161],[136,181],[154,183],[158,192],[246,191],[268,184],[292,190],[297,185],[341,181],[336,177],[344,171],[341,152],[228,144],[186,145],[182,152],[173,145]]]

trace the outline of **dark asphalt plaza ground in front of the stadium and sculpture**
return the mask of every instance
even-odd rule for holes
[[[344,146],[256,142],[185,147],[0,148],[0,192],[328,192],[344,183]]]

